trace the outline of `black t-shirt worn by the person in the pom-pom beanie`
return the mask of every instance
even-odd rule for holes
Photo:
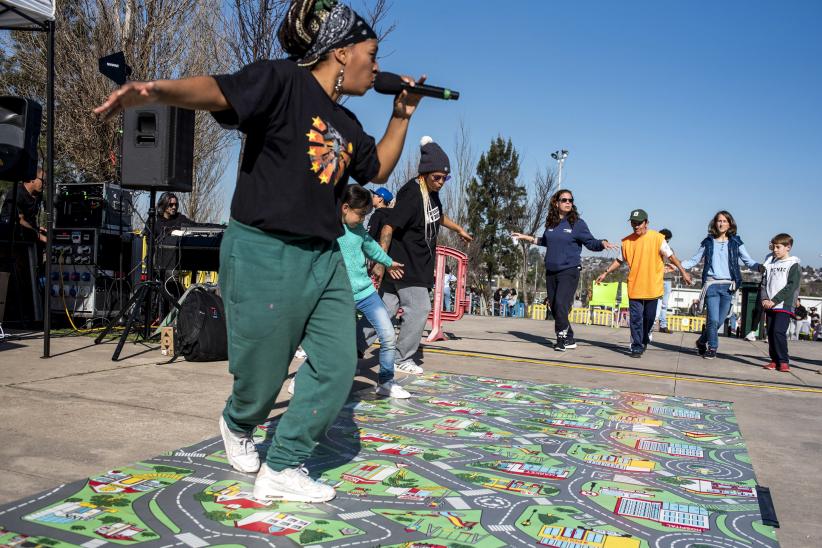
[[[442,217],[442,203],[436,192],[428,193],[431,216],[426,231],[425,206],[417,179],[408,181],[397,192],[397,203],[386,220],[394,227],[394,238],[388,254],[405,265],[405,275],[393,281],[397,287],[432,287],[437,255],[437,235]],[[390,282],[389,282],[390,283]]]

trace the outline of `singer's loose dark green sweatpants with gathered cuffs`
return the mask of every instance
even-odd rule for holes
[[[348,398],[357,365],[354,300],[336,243],[272,234],[232,220],[220,247],[220,287],[234,386],[223,417],[262,424],[298,345],[308,361],[266,456],[272,470],[311,455]]]

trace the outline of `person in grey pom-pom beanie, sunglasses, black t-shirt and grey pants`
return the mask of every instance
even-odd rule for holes
[[[389,210],[380,231],[380,245],[391,257],[405,265],[404,275],[383,282],[385,268],[377,264],[372,277],[381,285],[383,302],[393,317],[402,307],[402,327],[397,339],[395,369],[412,375],[422,374],[422,367],[413,356],[420,345],[420,337],[431,310],[428,290],[434,285],[434,267],[437,255],[437,235],[441,226],[459,234],[465,242],[473,238],[453,220],[442,213],[439,191],[451,178],[448,156],[431,137],[420,141],[419,175],[408,181],[397,192],[396,205]],[[363,342],[373,342],[373,329],[362,331]]]

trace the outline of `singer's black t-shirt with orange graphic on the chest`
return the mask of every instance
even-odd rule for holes
[[[231,216],[266,231],[342,236],[349,175],[365,184],[380,168],[354,114],[292,61],[258,61],[215,79],[231,109],[214,118],[247,135]]]

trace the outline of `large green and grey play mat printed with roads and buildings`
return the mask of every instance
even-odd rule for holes
[[[730,403],[408,380],[356,394],[307,463],[330,503],[255,500],[215,438],[0,507],[0,547],[778,546]]]

